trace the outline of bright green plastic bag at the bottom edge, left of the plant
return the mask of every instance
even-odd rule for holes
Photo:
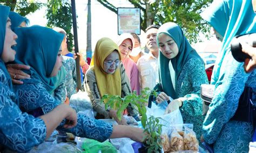
[[[117,152],[117,149],[113,147],[113,145],[109,141],[98,142],[89,138],[86,138],[86,140],[83,142],[82,149],[84,153],[95,153],[99,151],[101,151],[102,153]]]

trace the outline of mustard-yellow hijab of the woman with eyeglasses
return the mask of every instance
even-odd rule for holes
[[[110,38],[99,39],[95,52],[92,57],[91,67],[95,71],[95,77],[100,96],[104,94],[121,96],[121,74],[120,67],[116,69],[113,74],[107,74],[104,70],[104,60],[114,50],[118,51],[119,60],[121,60],[121,53],[116,43]]]

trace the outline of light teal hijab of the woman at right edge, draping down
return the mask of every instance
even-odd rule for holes
[[[201,17],[224,37],[212,73],[211,84],[214,85],[224,78],[226,64],[224,57],[230,52],[231,40],[241,34],[256,32],[255,13],[252,8],[252,1],[221,0],[214,1],[209,8],[201,13]],[[221,22],[223,20],[225,22]]]

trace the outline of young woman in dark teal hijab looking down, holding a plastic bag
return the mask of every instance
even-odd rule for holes
[[[204,121],[200,85],[208,84],[204,61],[188,43],[183,31],[176,23],[165,23],[157,32],[159,46],[159,79],[154,88],[158,94],[156,102],[169,100],[166,113],[180,109],[184,123],[192,123],[197,138],[201,135]]]

